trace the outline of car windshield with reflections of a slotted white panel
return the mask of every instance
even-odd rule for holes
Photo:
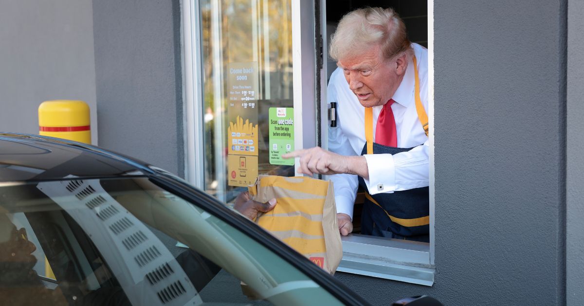
[[[148,178],[0,187],[0,290],[2,305],[338,304]]]

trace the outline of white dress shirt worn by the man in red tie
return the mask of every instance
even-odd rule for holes
[[[420,100],[428,111],[428,56],[427,49],[412,44],[418,64]],[[413,61],[409,59],[404,79],[395,91],[394,112],[398,147],[413,147],[408,152],[391,154],[365,154],[369,180],[365,180],[369,194],[394,192],[429,185],[427,136],[416,112],[414,97],[415,75]],[[343,71],[337,68],[328,85],[328,102],[336,102],[337,127],[329,127],[328,149],[342,155],[360,155],[365,140],[365,108],[349,89]],[[373,107],[373,140],[377,118],[383,105]],[[359,181],[357,175],[335,174],[330,180],[335,188],[336,212],[353,218],[353,204]]]

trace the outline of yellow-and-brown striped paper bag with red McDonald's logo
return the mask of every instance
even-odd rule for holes
[[[276,198],[276,207],[256,223],[328,273],[343,257],[332,182],[308,177],[260,175],[249,195],[258,202]]]

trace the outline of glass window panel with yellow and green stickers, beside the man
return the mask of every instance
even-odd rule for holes
[[[281,154],[315,139],[312,1],[189,1],[183,20],[189,181],[231,201],[260,174],[294,175]]]

